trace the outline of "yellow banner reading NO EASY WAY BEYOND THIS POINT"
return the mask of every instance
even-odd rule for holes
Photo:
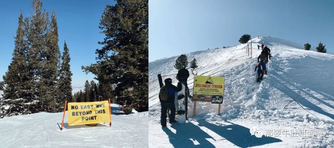
[[[68,125],[110,122],[108,101],[68,103]]]

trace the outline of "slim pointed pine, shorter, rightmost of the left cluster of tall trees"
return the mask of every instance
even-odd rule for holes
[[[72,98],[72,72],[70,71],[69,62],[71,57],[69,56],[69,50],[67,48],[66,41],[64,41],[64,52],[61,57],[61,69],[59,75],[58,89],[59,98],[57,100],[58,104],[64,104],[65,100],[67,102],[75,102]],[[60,108],[61,110],[61,108]]]

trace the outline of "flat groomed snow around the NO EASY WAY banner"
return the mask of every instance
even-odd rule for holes
[[[1,148],[18,147],[148,147],[148,112],[123,115],[118,105],[112,104],[112,127],[67,126],[60,131],[63,113],[36,113],[0,119]]]

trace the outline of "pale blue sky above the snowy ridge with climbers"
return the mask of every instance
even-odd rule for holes
[[[334,52],[333,0],[150,0],[149,62],[234,46],[243,34]]]

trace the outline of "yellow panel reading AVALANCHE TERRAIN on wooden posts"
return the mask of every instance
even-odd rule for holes
[[[224,83],[224,77],[195,75],[193,94],[222,96],[224,95]]]

